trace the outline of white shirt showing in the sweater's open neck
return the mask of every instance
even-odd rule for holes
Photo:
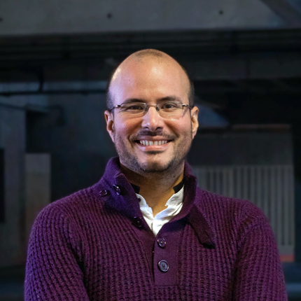
[[[140,199],[139,206],[146,223],[153,231],[153,234],[157,236],[162,225],[165,225],[173,216],[176,216],[176,214],[179,214],[181,211],[183,207],[184,187],[182,187],[178,193],[175,193],[172,197],[170,197],[165,204],[167,208],[159,212],[155,217],[153,216],[153,210],[148,206],[148,204],[146,204],[144,197],[138,193],[136,193],[136,195]]]

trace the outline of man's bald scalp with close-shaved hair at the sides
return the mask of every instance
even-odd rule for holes
[[[167,71],[168,70],[168,71]],[[146,77],[148,73],[165,72],[167,77],[176,77],[180,80],[181,85],[187,92],[189,105],[193,106],[195,91],[193,82],[190,80],[186,69],[176,62],[176,60],[165,52],[146,49],[134,52],[127,57],[113,72],[106,89],[106,106],[108,109],[115,105],[115,91],[120,88],[125,82],[131,81],[134,76]]]

